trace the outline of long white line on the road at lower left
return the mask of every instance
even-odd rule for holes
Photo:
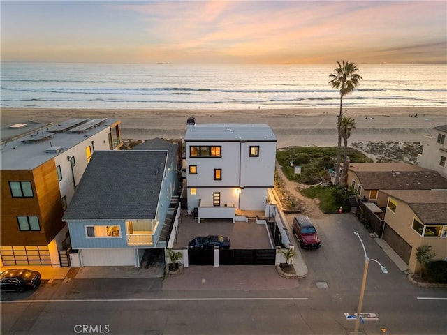
[[[121,301],[281,301],[281,300],[308,300],[309,298],[142,298],[142,299],[73,299],[73,300],[15,300],[15,301],[0,301],[1,304],[24,304],[34,302],[121,302]]]

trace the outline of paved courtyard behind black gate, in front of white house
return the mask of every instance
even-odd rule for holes
[[[207,235],[223,235],[230,237],[232,249],[269,249],[272,248],[268,237],[267,225],[259,225],[254,221],[202,220],[198,223],[186,211],[182,212],[174,249],[187,248],[194,237]]]

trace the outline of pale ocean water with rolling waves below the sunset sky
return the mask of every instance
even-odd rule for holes
[[[1,107],[243,109],[338,107],[328,65],[1,63]],[[344,107],[443,107],[447,65],[358,64]]]

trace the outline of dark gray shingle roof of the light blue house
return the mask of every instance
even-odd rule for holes
[[[95,151],[64,220],[152,219],[168,151]]]

